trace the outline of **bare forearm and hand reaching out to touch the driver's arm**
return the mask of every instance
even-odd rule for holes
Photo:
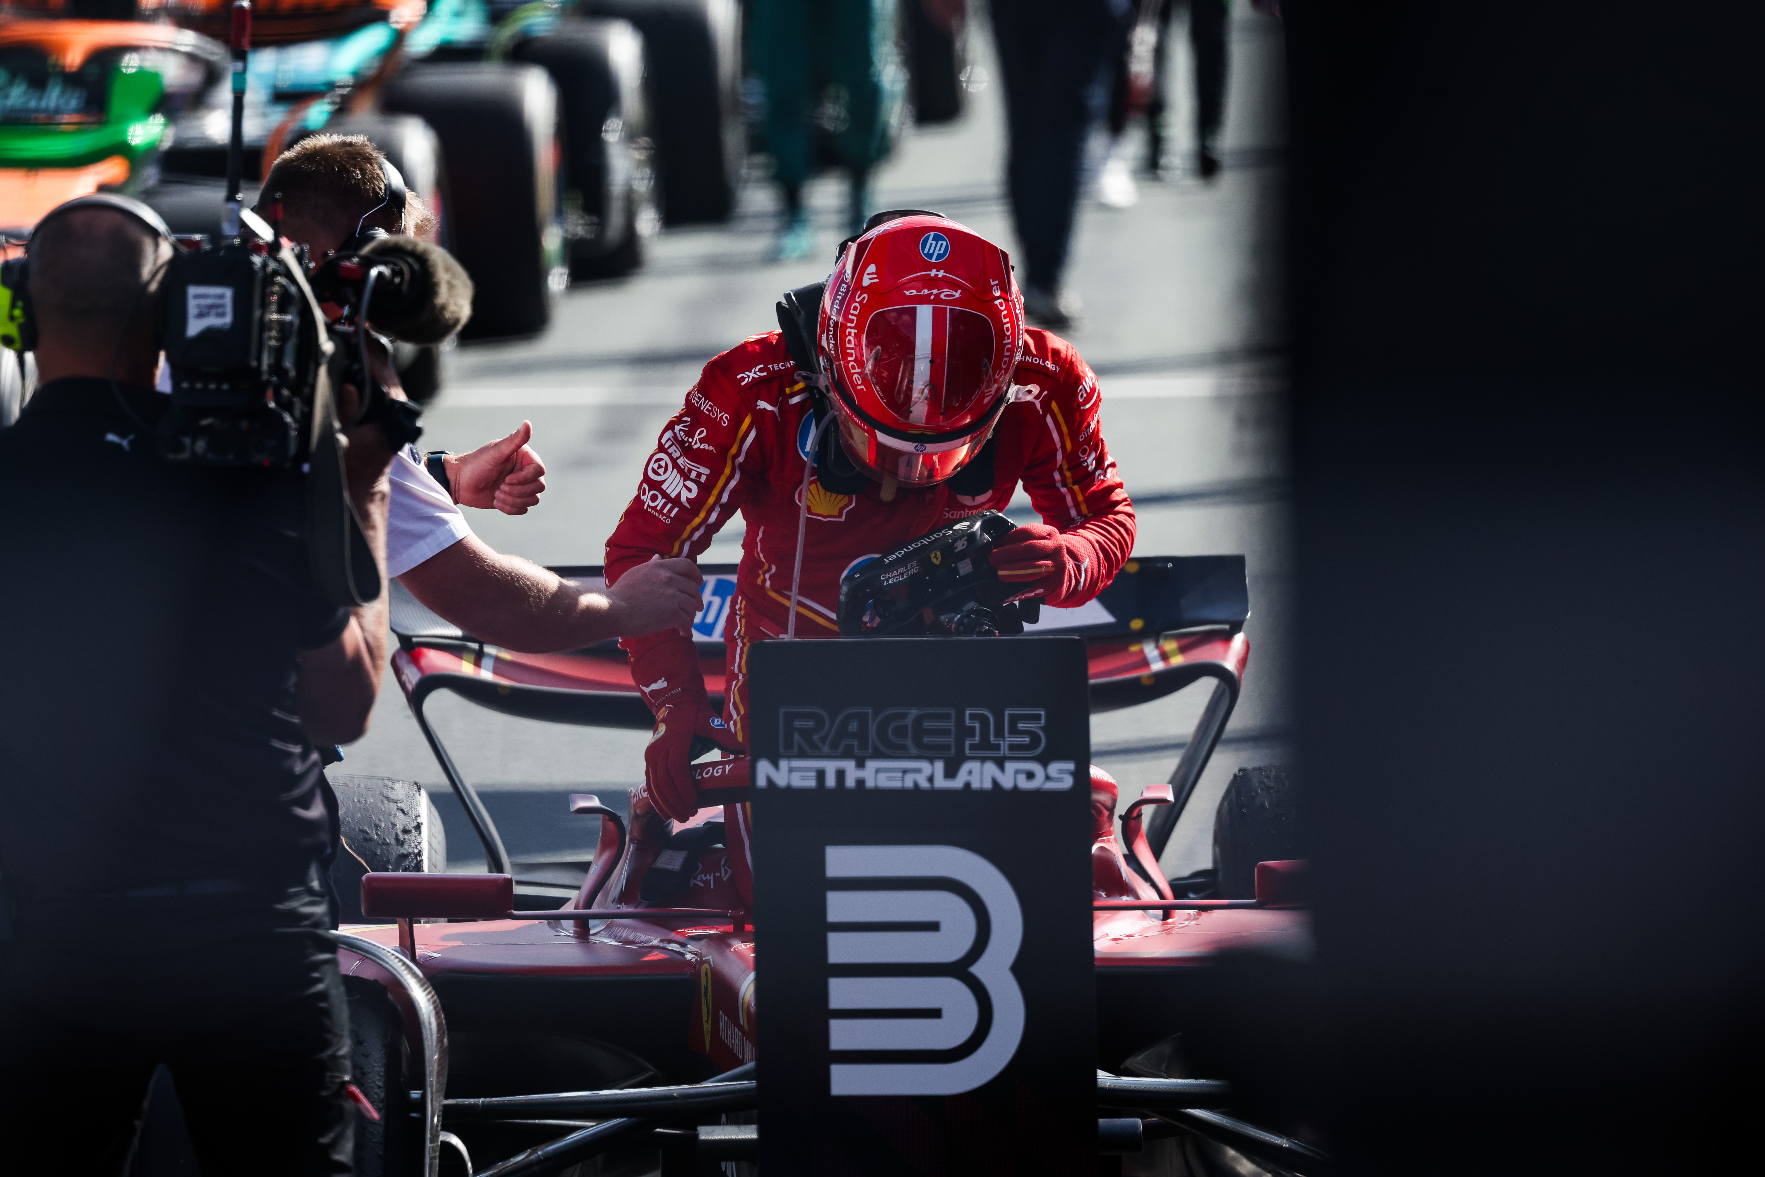
[[[597,593],[475,535],[399,577],[411,596],[473,637],[528,653],[687,628],[701,609],[702,581],[690,559],[655,559]]]

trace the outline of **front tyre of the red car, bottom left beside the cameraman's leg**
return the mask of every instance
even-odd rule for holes
[[[420,1082],[404,1038],[404,1016],[379,981],[344,978],[349,1002],[349,1082],[379,1119],[357,1112],[355,1177],[418,1177],[422,1122],[411,1115],[411,1082]]]

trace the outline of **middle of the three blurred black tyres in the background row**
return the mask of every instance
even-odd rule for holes
[[[510,55],[544,67],[558,86],[572,274],[635,270],[658,224],[642,37],[630,21],[565,19]]]

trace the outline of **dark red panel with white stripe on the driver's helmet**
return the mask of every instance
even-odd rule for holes
[[[994,326],[962,307],[888,307],[865,325],[865,379],[902,427],[946,432],[987,402]]]

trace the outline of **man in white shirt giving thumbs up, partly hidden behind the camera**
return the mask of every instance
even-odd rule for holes
[[[314,261],[348,251],[369,229],[408,236],[434,229],[415,194],[404,196],[402,208],[388,199],[385,155],[358,134],[314,134],[277,155],[258,214],[274,219],[277,196],[282,235],[305,245]],[[447,307],[447,291],[438,289],[429,312],[464,321],[469,282],[464,300]],[[383,353],[376,353],[374,374],[387,388],[399,388]],[[702,584],[690,559],[657,559],[628,572],[616,589],[591,591],[471,533],[457,505],[519,515],[538,503],[545,468],[528,448],[530,436],[522,422],[471,454],[425,459],[415,446],[401,450],[392,462],[388,572],[438,616],[507,649],[581,649],[627,633],[687,630],[701,609]]]

